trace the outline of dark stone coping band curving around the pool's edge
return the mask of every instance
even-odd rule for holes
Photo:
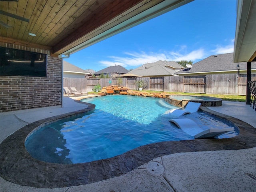
[[[75,100],[76,102],[80,102]],[[84,103],[84,102],[83,102]],[[180,153],[213,150],[238,150],[256,146],[256,129],[251,125],[207,107],[200,109],[208,114],[224,118],[240,130],[240,134],[227,139],[198,139],[164,141],[140,146],[124,154],[81,164],[54,164],[34,159],[25,148],[25,139],[34,128],[63,118],[78,116],[94,110],[95,105],[84,103],[88,108],[39,120],[20,128],[1,144],[0,173],[4,180],[37,188],[60,188],[90,184],[126,174],[154,158]]]

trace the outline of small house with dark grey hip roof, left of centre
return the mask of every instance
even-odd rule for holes
[[[99,76],[100,74],[104,74],[104,75],[108,74],[109,76],[112,76],[113,78],[115,78],[118,75],[126,74],[128,72],[129,70],[127,70],[126,68],[120,65],[115,65],[115,66],[109,66],[100,71],[97,71],[94,73],[94,75]]]

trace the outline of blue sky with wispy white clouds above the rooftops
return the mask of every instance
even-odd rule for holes
[[[234,50],[235,0],[195,0],[64,59],[84,70],[130,70],[158,60],[192,60]]]

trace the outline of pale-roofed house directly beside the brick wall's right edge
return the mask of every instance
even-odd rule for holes
[[[63,78],[86,78],[92,76],[89,71],[63,61]]]

